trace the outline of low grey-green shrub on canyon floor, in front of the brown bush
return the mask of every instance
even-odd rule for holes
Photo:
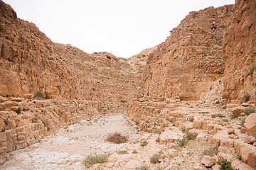
[[[108,159],[107,154],[95,154],[95,155],[91,154],[91,155],[87,156],[84,160],[82,160],[82,164],[86,168],[89,168],[93,164],[107,162],[107,159]]]

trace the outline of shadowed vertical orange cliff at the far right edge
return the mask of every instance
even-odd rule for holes
[[[223,96],[228,101],[249,94],[255,99],[256,1],[236,1],[228,19],[223,50],[225,76]]]

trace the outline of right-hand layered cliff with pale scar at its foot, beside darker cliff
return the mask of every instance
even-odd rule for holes
[[[221,98],[223,30],[232,6],[193,11],[149,55],[139,98]]]

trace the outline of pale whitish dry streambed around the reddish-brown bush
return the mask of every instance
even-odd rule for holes
[[[119,145],[105,142],[112,132],[128,135],[129,142]],[[0,169],[84,169],[81,161],[85,156],[124,150],[137,136],[123,114],[82,120],[35,145],[11,152],[11,160]]]

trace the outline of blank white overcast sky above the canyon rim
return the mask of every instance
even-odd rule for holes
[[[235,0],[4,0],[53,42],[131,57],[163,42],[190,11]]]

